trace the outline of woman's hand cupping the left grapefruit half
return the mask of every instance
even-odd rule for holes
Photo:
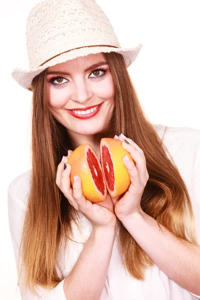
[[[81,212],[91,223],[93,229],[110,229],[115,228],[116,216],[114,207],[109,194],[103,202],[92,203],[85,199],[82,194],[81,178],[76,175],[77,181],[70,184],[71,165],[68,162],[68,157],[72,153],[68,151],[68,156],[64,156],[64,160],[57,166],[56,184],[68,199],[69,203],[79,212]],[[64,170],[64,163],[66,168]]]

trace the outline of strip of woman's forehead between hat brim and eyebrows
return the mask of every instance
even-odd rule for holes
[[[99,61],[105,61],[105,58],[103,57],[102,53],[91,53],[85,56],[76,57],[71,60],[67,60],[65,62],[57,63],[55,65],[49,66],[47,68],[47,72],[49,71],[56,71],[60,69],[68,70],[70,68],[86,68],[90,65],[99,62]]]

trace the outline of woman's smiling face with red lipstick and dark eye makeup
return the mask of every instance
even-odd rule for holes
[[[92,67],[96,63],[97,67]],[[50,111],[67,131],[95,134],[108,129],[114,108],[114,86],[101,53],[50,66],[46,80]]]

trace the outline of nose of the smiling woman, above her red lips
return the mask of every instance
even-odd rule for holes
[[[76,78],[71,81],[71,91],[70,99],[74,102],[84,103],[92,96],[92,91],[90,90],[89,84],[85,82],[85,79],[82,77]]]

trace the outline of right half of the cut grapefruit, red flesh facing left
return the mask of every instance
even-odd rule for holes
[[[101,138],[101,166],[107,191],[111,197],[121,195],[130,185],[130,176],[122,161],[124,155],[134,162],[129,152],[123,148],[120,140],[109,137]]]

